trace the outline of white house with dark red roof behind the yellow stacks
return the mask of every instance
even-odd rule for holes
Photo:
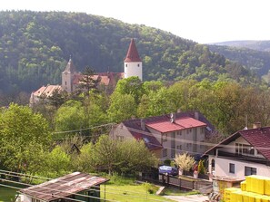
[[[209,172],[216,177],[270,177],[270,127],[239,130],[207,150]]]

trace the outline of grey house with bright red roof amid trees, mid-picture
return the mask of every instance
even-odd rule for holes
[[[188,152],[200,156],[207,148],[205,139],[213,125],[198,111],[177,112],[144,120],[125,120],[111,130],[113,139],[142,139],[158,159],[174,159]]]

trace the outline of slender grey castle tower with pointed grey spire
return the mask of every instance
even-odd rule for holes
[[[62,72],[62,88],[65,91],[69,93],[75,91],[74,80],[78,74],[79,72],[76,72],[75,65],[70,57],[69,62],[66,64],[65,71]]]

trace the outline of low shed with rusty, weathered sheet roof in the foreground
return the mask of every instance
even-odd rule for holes
[[[21,202],[69,202],[100,200],[100,185],[109,179],[74,172],[61,178],[55,178],[40,185],[22,188]]]

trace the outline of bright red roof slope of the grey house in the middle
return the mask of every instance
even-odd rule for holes
[[[146,123],[146,126],[160,132],[171,132],[175,130],[184,130],[200,126],[206,126],[206,124],[191,117],[182,117],[176,119],[175,122],[170,122],[169,120],[162,120]]]

